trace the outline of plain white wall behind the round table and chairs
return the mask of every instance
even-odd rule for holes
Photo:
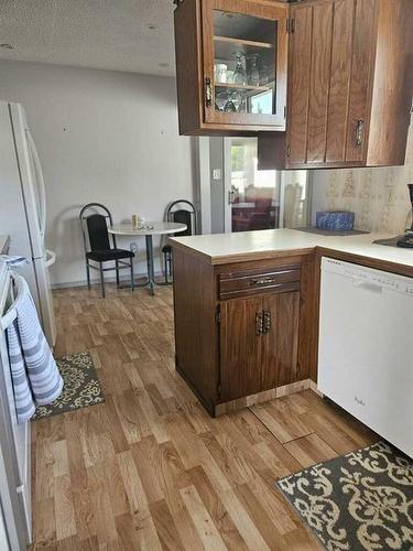
[[[85,280],[86,203],[104,203],[119,223],[132,214],[161,220],[169,202],[192,199],[193,141],[178,136],[174,79],[0,61],[0,99],[24,105],[41,156],[54,284]],[[142,272],[144,239],[133,240]]]

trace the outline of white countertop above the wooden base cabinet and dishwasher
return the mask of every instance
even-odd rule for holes
[[[173,237],[171,244],[181,244],[214,264],[241,260],[242,257],[265,258],[283,251],[311,251],[315,247],[328,248],[374,260],[393,262],[413,268],[413,250],[376,245],[376,239],[389,239],[389,234],[363,234],[351,236],[322,236],[296,229],[265,229],[214,234],[191,237]],[[252,258],[251,258],[252,259]]]

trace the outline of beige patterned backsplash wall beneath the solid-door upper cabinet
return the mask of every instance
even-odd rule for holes
[[[404,166],[314,173],[313,223],[317,210],[352,210],[355,227],[402,234],[412,224],[406,185],[413,183],[413,129]]]

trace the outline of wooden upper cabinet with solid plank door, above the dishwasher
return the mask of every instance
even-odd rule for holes
[[[411,0],[290,7],[287,129],[260,169],[404,164],[413,88]]]

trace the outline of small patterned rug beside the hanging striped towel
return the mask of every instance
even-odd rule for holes
[[[48,406],[39,406],[32,421],[57,415],[105,401],[94,360],[89,353],[73,354],[57,360],[64,380],[61,397]]]

